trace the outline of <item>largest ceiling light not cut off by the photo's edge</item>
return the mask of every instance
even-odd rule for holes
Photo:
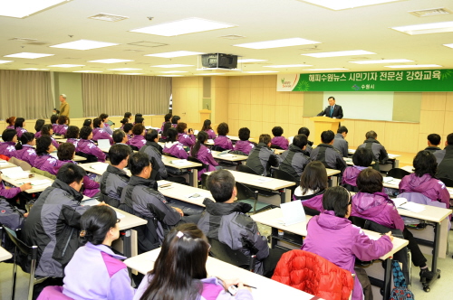
[[[201,33],[210,30],[236,27],[228,23],[220,23],[200,18],[188,18],[169,23],[160,23],[148,27],[131,30],[132,33],[148,33],[162,36],[175,36],[187,33]]]

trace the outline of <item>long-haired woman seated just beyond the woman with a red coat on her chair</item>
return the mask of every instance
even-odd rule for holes
[[[294,190],[293,199],[301,200],[305,213],[317,215],[323,211],[323,193],[327,189],[327,172],[323,163],[314,161],[305,166],[301,183]]]

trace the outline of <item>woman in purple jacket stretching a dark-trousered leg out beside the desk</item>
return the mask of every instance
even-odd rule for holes
[[[420,267],[420,279],[431,280],[434,272],[430,272],[426,264],[427,259],[419,249],[417,241],[404,227],[400,213],[389,196],[382,191],[382,175],[376,170],[366,168],[357,177],[359,192],[352,197],[351,215],[366,220],[372,220],[391,230],[402,231],[404,239],[409,240],[408,248],[414,266]]]

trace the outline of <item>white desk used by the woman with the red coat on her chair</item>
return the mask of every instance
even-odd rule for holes
[[[301,237],[305,237],[307,235],[307,222],[312,218],[311,216],[306,216],[307,220],[304,222],[300,222],[294,225],[290,226],[284,226],[281,223],[276,222],[275,220],[281,219],[283,217],[282,210],[280,208],[275,208],[270,211],[264,211],[260,213],[256,213],[254,215],[251,215],[251,218],[255,220],[256,222],[265,224],[267,226],[272,227],[272,235],[271,235],[271,245],[274,248],[276,245],[276,242],[274,239],[280,239],[282,241],[286,241],[283,237],[278,236],[278,230],[284,230],[284,231],[289,231],[292,232],[296,235],[299,235]],[[375,238],[379,238],[381,236],[380,233],[370,231],[370,230],[363,230],[365,234],[368,236],[372,236]],[[291,243],[294,244],[294,240],[290,241]],[[404,248],[408,246],[409,241],[406,239],[398,239],[398,238],[393,238],[393,241],[391,242],[393,244],[393,248],[391,248],[390,252],[387,254],[381,256],[381,260],[384,261],[384,264],[382,264],[382,267],[384,269],[384,280],[375,280],[374,282],[380,283],[381,287],[384,290],[383,293],[383,299],[389,299],[390,296],[390,288],[391,288],[391,258],[393,257],[393,254],[398,252],[401,248]],[[302,247],[302,243],[300,245]]]

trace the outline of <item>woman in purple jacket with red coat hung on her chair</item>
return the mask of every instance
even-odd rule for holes
[[[307,237],[301,249],[326,258],[336,266],[356,274],[355,258],[364,261],[377,259],[393,248],[390,231],[374,240],[359,227],[352,225],[351,220],[348,220],[351,214],[351,195],[342,186],[335,186],[324,192],[323,209],[319,216],[308,221]],[[359,276],[356,279],[359,280],[354,280],[352,300],[363,299],[362,278]],[[368,292],[371,291],[366,292],[369,295]]]

